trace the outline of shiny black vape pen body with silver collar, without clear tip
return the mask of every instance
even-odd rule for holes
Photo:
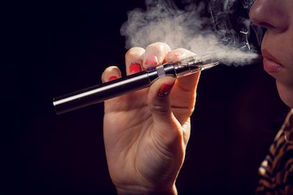
[[[163,75],[162,75],[163,74]],[[176,77],[172,64],[161,65],[135,75],[129,75],[104,84],[91,86],[80,91],[54,98],[53,105],[57,114],[97,104],[119,95],[147,88],[160,77],[170,75]]]

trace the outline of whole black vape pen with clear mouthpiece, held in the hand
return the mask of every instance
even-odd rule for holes
[[[154,81],[162,77],[186,77],[195,72],[212,68],[218,65],[218,63],[211,54],[194,55],[173,63],[165,63],[134,75],[54,98],[54,109],[57,114],[63,114],[68,111],[87,107],[91,104],[103,102],[110,98],[115,98],[119,95],[147,88]]]

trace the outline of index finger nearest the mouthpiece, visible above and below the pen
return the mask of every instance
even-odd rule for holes
[[[193,52],[190,52],[187,49],[179,48],[169,52],[166,56],[166,60],[168,62],[174,62],[193,55],[195,55]],[[181,88],[183,91],[195,91],[199,79],[200,72],[188,77],[181,77],[176,81],[176,86]]]

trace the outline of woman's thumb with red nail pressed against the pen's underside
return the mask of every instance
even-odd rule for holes
[[[170,129],[178,130],[181,127],[170,106],[170,92],[174,83],[173,77],[163,77],[149,88],[147,102],[153,117],[154,130],[159,134],[170,134]]]

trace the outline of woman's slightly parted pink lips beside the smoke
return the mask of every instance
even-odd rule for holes
[[[266,51],[266,49],[262,49],[262,56],[264,56],[264,70],[268,73],[280,72],[284,68],[283,65],[278,63],[278,61]]]

